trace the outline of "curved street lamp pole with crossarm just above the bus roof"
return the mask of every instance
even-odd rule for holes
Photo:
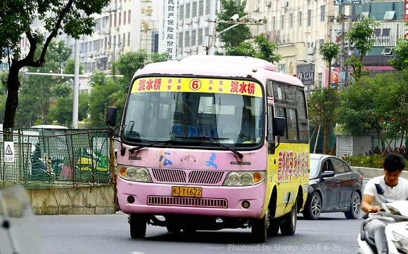
[[[229,18],[229,20],[215,20],[212,30],[212,36],[209,38],[210,42],[208,43],[208,46],[205,47],[207,55],[214,55],[215,40],[218,36],[224,34],[224,32],[227,32],[229,29],[232,29],[238,25],[265,25],[266,23],[266,18],[258,18],[253,15],[245,15],[239,18],[238,14],[234,14],[231,18]],[[231,27],[227,27],[226,29],[217,33],[218,24],[231,24]]]

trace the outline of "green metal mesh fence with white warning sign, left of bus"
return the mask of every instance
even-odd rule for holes
[[[109,185],[110,159],[114,158],[110,158],[106,129],[3,130],[0,188],[15,184],[26,189]]]

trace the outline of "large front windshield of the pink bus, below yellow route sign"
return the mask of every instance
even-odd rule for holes
[[[133,87],[123,122],[125,142],[200,147],[220,147],[217,142],[228,147],[260,145],[264,126],[262,97],[210,91],[134,90]]]

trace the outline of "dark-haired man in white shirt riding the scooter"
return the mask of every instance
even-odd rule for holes
[[[393,201],[408,200],[408,180],[400,178],[405,167],[405,159],[400,154],[388,154],[384,160],[384,175],[371,178],[364,189],[362,210],[366,213],[381,212],[381,204]],[[383,194],[377,189],[383,190]],[[370,214],[370,217],[373,215]],[[385,238],[386,222],[371,218],[366,225],[366,236],[376,243],[378,253],[388,253]]]

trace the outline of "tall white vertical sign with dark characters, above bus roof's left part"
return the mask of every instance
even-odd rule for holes
[[[162,0],[160,8],[159,53],[169,53],[175,60],[177,50],[177,0]]]

